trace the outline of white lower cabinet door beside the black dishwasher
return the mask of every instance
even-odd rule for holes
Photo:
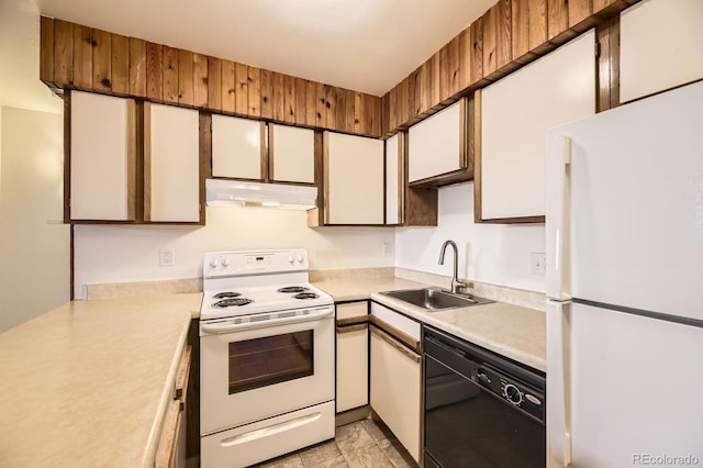
[[[421,357],[371,327],[371,408],[420,461]]]

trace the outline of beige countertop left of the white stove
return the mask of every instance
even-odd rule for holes
[[[0,466],[153,467],[201,300],[74,301],[0,334]]]

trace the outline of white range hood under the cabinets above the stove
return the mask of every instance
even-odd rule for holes
[[[281,210],[311,210],[317,207],[316,187],[207,179],[205,190],[209,207],[257,205]]]

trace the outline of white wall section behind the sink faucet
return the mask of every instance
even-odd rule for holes
[[[473,223],[473,182],[439,189],[437,227],[403,227],[395,234],[395,266],[450,276],[453,253],[438,265],[446,239],[459,247],[459,277],[532,291],[545,277],[531,274],[531,254],[545,252],[544,224]],[[449,247],[450,249],[450,247]]]

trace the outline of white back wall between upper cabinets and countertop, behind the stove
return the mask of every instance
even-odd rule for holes
[[[77,225],[75,296],[90,283],[196,278],[203,253],[303,247],[311,269],[392,267],[383,244],[390,227],[308,227],[304,211],[267,208],[208,208],[205,226]],[[159,248],[174,247],[176,265],[158,266]]]

